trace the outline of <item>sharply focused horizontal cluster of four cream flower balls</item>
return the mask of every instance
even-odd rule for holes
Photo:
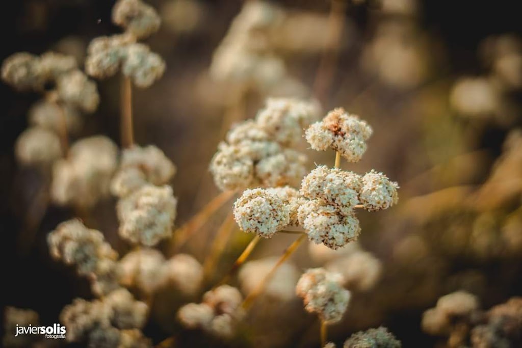
[[[355,206],[387,209],[398,200],[397,188],[373,170],[361,177],[318,166],[304,177],[300,191],[291,187],[245,190],[234,203],[234,218],[244,232],[266,238],[288,225],[301,225],[311,241],[337,249],[360,234]]]

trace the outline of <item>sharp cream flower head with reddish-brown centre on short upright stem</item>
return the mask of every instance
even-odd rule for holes
[[[339,107],[306,130],[306,141],[313,150],[333,149],[348,162],[359,162],[372,133],[372,127],[359,116],[350,115]]]

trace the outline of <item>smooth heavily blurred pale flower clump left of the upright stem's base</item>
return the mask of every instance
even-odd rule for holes
[[[53,166],[51,198],[60,205],[92,207],[110,194],[117,166],[117,147],[104,136],[76,141],[66,159]]]

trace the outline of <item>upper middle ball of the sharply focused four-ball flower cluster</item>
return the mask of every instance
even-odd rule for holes
[[[320,165],[304,177],[301,194],[306,198],[322,200],[343,215],[352,215],[353,207],[359,203],[361,188],[359,175]]]

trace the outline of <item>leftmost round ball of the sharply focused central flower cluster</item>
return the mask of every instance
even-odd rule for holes
[[[277,195],[248,189],[234,202],[234,219],[244,232],[270,238],[290,223],[290,210]]]

